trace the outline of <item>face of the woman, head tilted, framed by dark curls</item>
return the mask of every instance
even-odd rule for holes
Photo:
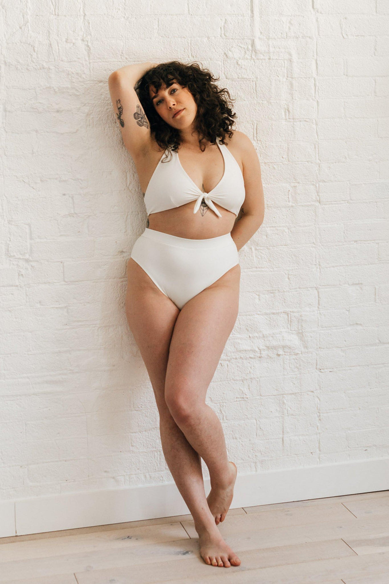
[[[162,84],[156,93],[155,87],[150,86],[149,94],[156,112],[167,124],[178,130],[191,126],[196,117],[197,105],[187,87],[176,82],[169,87]],[[177,112],[178,115],[174,116]]]

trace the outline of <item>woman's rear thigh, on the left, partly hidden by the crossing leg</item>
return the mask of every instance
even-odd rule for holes
[[[170,340],[180,311],[132,258],[127,262],[125,311],[148,371],[157,407],[162,412],[166,409],[164,385]]]

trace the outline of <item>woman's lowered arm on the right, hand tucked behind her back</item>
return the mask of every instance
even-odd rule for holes
[[[239,250],[261,227],[265,214],[265,201],[261,165],[253,142],[243,132],[235,132],[234,134],[239,137],[244,189],[246,190],[246,197],[231,231],[231,237]]]

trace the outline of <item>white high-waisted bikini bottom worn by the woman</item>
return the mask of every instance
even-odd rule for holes
[[[239,263],[230,233],[187,239],[148,227],[136,239],[131,258],[180,310]]]

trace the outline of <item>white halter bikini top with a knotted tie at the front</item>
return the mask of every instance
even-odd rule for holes
[[[220,144],[219,138],[217,138],[217,142],[224,159],[224,174],[209,193],[203,193],[184,171],[177,152],[171,151],[173,158],[169,162],[162,162],[164,154],[162,155],[145,192],[145,206],[148,215],[181,207],[181,205],[194,200],[196,204],[193,213],[197,213],[203,199],[219,217],[222,215],[213,201],[218,203],[220,207],[232,211],[235,215],[239,213],[246,196],[243,174],[226,145]]]

